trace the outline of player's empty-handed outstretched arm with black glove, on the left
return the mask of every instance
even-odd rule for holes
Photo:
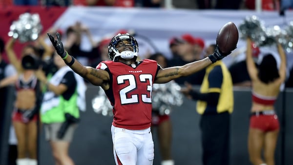
[[[102,86],[102,88],[105,90],[109,88],[108,82],[110,77],[108,72],[101,69],[95,69],[90,66],[84,66],[76,59],[74,59],[74,57],[70,56],[66,51],[64,51],[63,43],[60,39],[59,33],[57,33],[57,40],[55,40],[54,36],[50,35],[49,33],[48,36],[59,56],[75,73],[79,74],[93,85]]]

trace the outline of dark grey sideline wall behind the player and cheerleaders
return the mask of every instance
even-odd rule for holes
[[[87,110],[82,112],[81,122],[70,146],[70,156],[76,165],[115,165],[112,151],[110,126],[112,117],[93,111],[91,99],[96,96],[97,88],[88,86],[86,92]],[[286,103],[283,103],[284,98]],[[275,152],[276,165],[293,165],[293,91],[281,93],[276,102],[276,111],[281,124]],[[292,100],[292,99],[291,99]],[[176,165],[202,165],[199,120],[195,111],[195,101],[185,98],[180,107],[174,106],[171,112],[173,125],[172,155]],[[234,91],[234,111],[231,115],[230,165],[250,165],[247,151],[249,113],[251,106],[250,90]],[[284,118],[284,112],[286,114]],[[285,119],[285,121],[284,121]],[[53,158],[49,144],[40,139],[41,165],[52,165]],[[154,165],[160,165],[157,133],[153,132],[155,143]]]

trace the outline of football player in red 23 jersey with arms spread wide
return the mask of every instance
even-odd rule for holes
[[[154,144],[150,131],[153,83],[191,75],[230,54],[220,53],[217,48],[203,60],[161,68],[153,60],[137,62],[137,41],[128,33],[119,33],[108,46],[111,61],[100,62],[93,68],[82,65],[64,51],[58,33],[57,39],[49,33],[48,36],[64,62],[88,82],[101,86],[113,105],[111,133],[116,165],[153,164]]]

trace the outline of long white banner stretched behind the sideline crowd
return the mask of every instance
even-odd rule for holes
[[[155,49],[164,53],[168,58],[169,40],[189,33],[194,37],[201,37],[206,45],[214,43],[219,29],[229,21],[239,26],[247,16],[257,16],[265,22],[266,27],[279,25],[281,28],[293,21],[293,12],[286,11],[286,17],[279,16],[277,11],[255,12],[251,10],[190,10],[190,9],[152,9],[152,8],[112,8],[112,7],[82,7],[68,8],[56,21],[55,26],[65,30],[76,21],[89,27],[93,38],[99,41],[105,35],[126,29],[134,30],[140,45],[148,39],[155,45]],[[136,37],[136,38],[138,38]],[[148,41],[146,41],[149,43]],[[89,49],[89,41],[83,38],[83,49]],[[237,49],[245,42],[239,40]],[[145,50],[146,51],[146,50]],[[154,50],[152,50],[154,51]],[[236,51],[235,51],[236,52]],[[142,49],[139,51],[142,54]],[[230,63],[231,56],[224,59]]]

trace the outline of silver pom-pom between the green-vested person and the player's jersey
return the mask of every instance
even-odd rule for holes
[[[94,112],[103,116],[113,116],[113,106],[105,95],[102,87],[99,87],[98,95],[92,99],[92,107]]]

